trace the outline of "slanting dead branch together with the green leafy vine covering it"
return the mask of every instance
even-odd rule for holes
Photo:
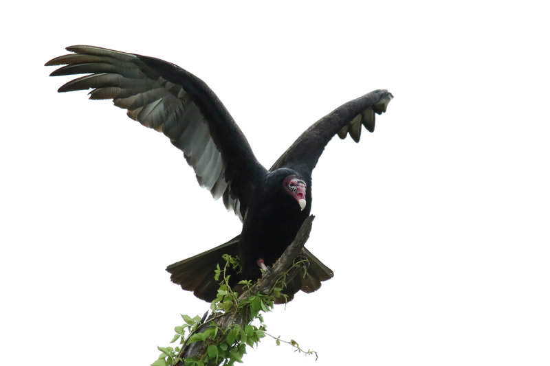
[[[283,260],[285,254],[288,254],[287,256],[291,257],[289,263],[292,263],[292,266],[283,271],[278,266],[279,261],[276,262],[273,268],[274,281],[272,282],[264,278],[259,279],[256,284],[247,280],[239,282],[239,286],[243,289],[241,295],[231,288],[229,285],[230,275],[226,275],[228,268],[239,271],[239,262],[230,255],[224,255],[223,269],[217,266],[214,271],[214,278],[219,281],[220,286],[216,299],[210,304],[210,314],[206,312],[202,318],[182,314],[184,324],[174,328],[175,335],[170,341],[170,343],[179,341],[179,345],[157,347],[162,353],[151,366],[233,365],[235,361],[241,363],[243,355],[246,353],[246,346],[258,345],[260,339],[266,335],[275,339],[276,345],[280,345],[281,342],[287,343],[292,345],[296,352],[305,355],[315,354],[317,359],[317,352],[303,350],[293,339],[283,341],[280,336],[275,337],[267,334],[265,332],[267,327],[262,315],[262,312],[270,312],[273,309],[276,299],[281,299],[281,297],[286,299],[286,295],[282,291],[287,275],[304,268],[304,261],[296,258],[296,253],[299,253],[296,249],[301,251],[305,240],[307,240],[311,229],[311,220],[313,220],[313,216],[306,220],[303,228],[298,232],[296,240],[299,237],[299,242],[296,244],[293,242],[281,257]],[[262,282],[270,283],[267,290],[265,286],[261,286]],[[191,350],[192,348],[193,350]]]

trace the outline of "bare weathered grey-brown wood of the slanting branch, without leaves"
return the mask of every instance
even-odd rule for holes
[[[287,247],[283,255],[281,255],[281,258],[279,258],[273,265],[273,268],[271,269],[270,273],[259,279],[256,284],[252,285],[250,289],[245,290],[244,293],[239,296],[240,299],[246,299],[250,297],[250,295],[254,295],[256,293],[261,293],[263,295],[269,295],[272,288],[276,285],[279,279],[281,279],[281,276],[285,275],[287,271],[289,271],[289,268],[292,267],[294,260],[300,255],[305,242],[309,238],[309,232],[311,231],[311,222],[313,222],[314,216],[309,216],[306,218],[302,224],[302,227],[298,230],[298,233],[296,234],[296,238],[294,238],[294,241]],[[299,271],[299,268],[293,268],[293,270],[296,269]],[[295,275],[295,273],[288,273],[287,275],[292,276]],[[250,323],[253,319],[250,319],[250,314],[248,313],[248,310],[246,308],[241,308],[234,312],[226,312],[225,314],[222,314],[221,316],[219,314],[210,314],[208,318],[206,318],[206,314],[203,317],[203,325],[195,333],[201,333],[208,329],[209,324],[211,321],[213,321],[217,327],[219,328],[218,334],[215,339],[208,339],[204,342],[193,342],[188,343],[188,339],[184,342],[184,344],[181,346],[181,352],[179,354],[180,358],[182,360],[185,360],[186,358],[192,357],[195,359],[203,359],[203,357],[206,355],[208,345],[217,344],[223,339],[223,334],[225,334],[225,331],[232,328],[234,325],[240,325],[241,327],[244,327],[248,323]],[[206,318],[206,320],[205,320]],[[220,360],[219,363],[223,362],[223,359]],[[177,366],[184,365],[183,361],[177,363]]]

